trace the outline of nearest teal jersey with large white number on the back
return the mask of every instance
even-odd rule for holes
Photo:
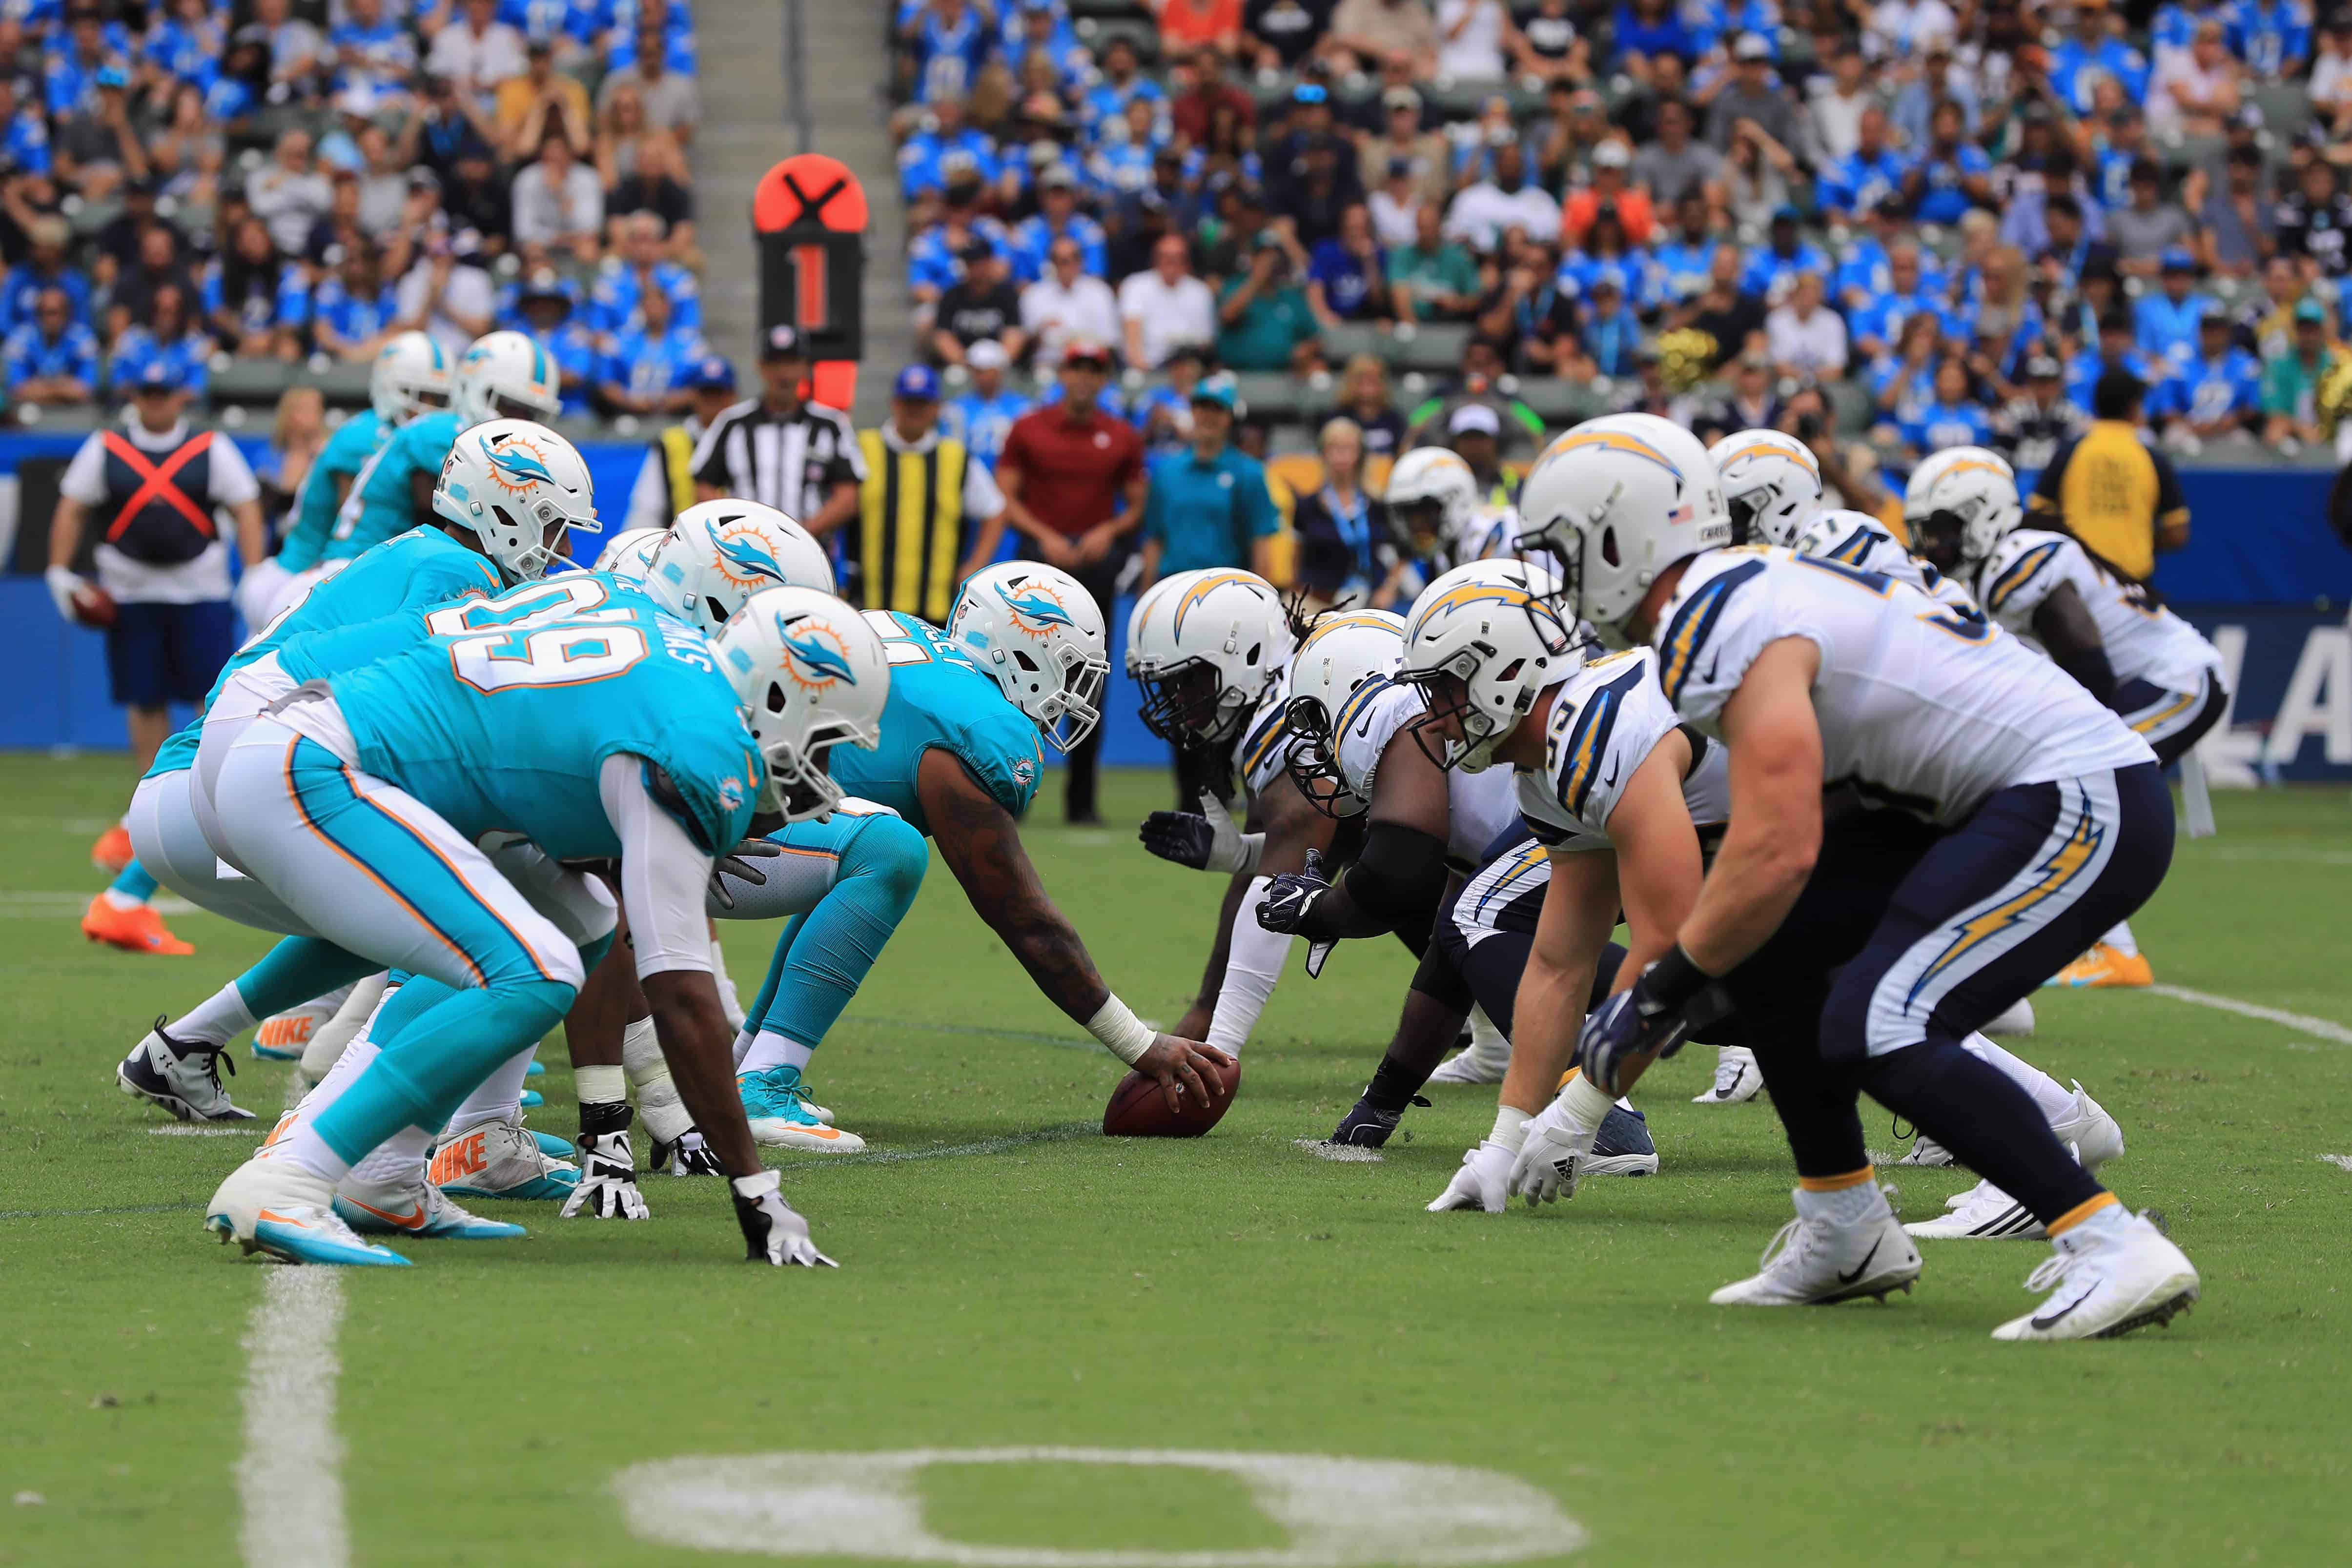
[[[567,574],[529,588],[574,576],[593,581]],[[494,616],[494,607],[461,609]],[[597,769],[614,752],[670,776],[682,799],[673,811],[706,849],[722,853],[750,827],[762,764],[710,639],[609,578],[597,609],[435,635],[327,686],[360,766],[468,839],[508,830],[557,860],[619,856],[597,795]]]

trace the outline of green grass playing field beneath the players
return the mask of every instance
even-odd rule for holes
[[[176,914],[195,959],[82,943],[87,844],[127,788],[120,759],[0,759],[5,1563],[235,1563],[254,1523],[238,1505],[254,1453],[240,1401],[278,1269],[200,1229],[252,1145],[160,1135],[174,1124],[120,1095],[113,1063],[266,938]],[[1162,792],[1117,778],[1112,823]],[[1030,849],[1047,886],[1105,978],[1174,1018],[1216,879],[1150,860],[1127,827],[1051,825],[1054,783],[1042,804]],[[2352,1025],[2352,799],[2218,809],[2223,835],[2183,846],[2138,922],[2159,980]],[[769,936],[729,931],[746,992]],[[1284,980],[1211,1138],[1103,1140],[1117,1065],[934,867],[816,1058],[821,1098],[875,1154],[786,1173],[840,1272],[746,1267],[715,1182],[652,1178],[644,1225],[485,1204],[532,1237],[405,1244],[419,1267],[341,1276],[350,1561],[757,1561],[633,1533],[616,1476],[694,1455],[1054,1446],[1501,1472],[1588,1533],[1581,1563],[2347,1559],[2352,1171],[2321,1159],[2352,1154],[2340,1027],[2044,992],[2020,1051],[2124,1124],[2131,1152],[2107,1180],[2169,1215],[2204,1302],[2117,1342],[1994,1345],[1990,1328],[2032,1300],[2020,1284],[2042,1244],[1926,1244],[1917,1293],[1884,1307],[1708,1307],[1788,1218],[1790,1171],[1766,1105],[1686,1103],[1705,1051],[1642,1086],[1665,1171],[1543,1213],[1421,1211],[1489,1126],[1489,1091],[1439,1091],[1378,1164],[1296,1147],[1355,1098],[1404,980],[1395,945]],[[569,1133],[562,1048],[543,1056],[534,1121]],[[285,1067],[240,1067],[233,1091],[266,1126]],[[1896,1147],[1884,1128],[1872,1145]],[[1903,1173],[1905,1206],[1933,1211],[1966,1180]],[[254,1458],[275,1458],[268,1432]],[[903,1486],[924,1540],[957,1542],[934,1561],[1470,1561],[1444,1554],[1444,1530],[1416,1535],[1406,1493],[1357,1497],[1362,1528],[1378,1526],[1369,1556],[1312,1559],[1284,1552],[1301,1537],[1230,1469],[1028,1455],[931,1465]],[[866,1533],[821,1535],[811,1514],[755,1502],[736,1509],[750,1526],[715,1537],[906,1554],[870,1514]],[[677,1505],[670,1530],[703,1528],[713,1507]]]

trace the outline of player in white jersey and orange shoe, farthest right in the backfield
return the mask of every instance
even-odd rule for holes
[[[1983,447],[1952,447],[1912,470],[1903,517],[1922,552],[1962,574],[1985,614],[2122,715],[2171,766],[2230,708],[2220,649],[2154,588],[2098,559],[2072,534],[2020,529],[2018,482]],[[2154,985],[2147,954],[2117,922],[2056,985]]]

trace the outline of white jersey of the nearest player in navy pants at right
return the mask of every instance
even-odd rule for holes
[[[1766,644],[1820,649],[1823,788],[1959,823],[2023,783],[2154,762],[2147,743],[2046,658],[1910,583],[1792,550],[1710,550],[1658,616],[1658,682],[1722,733]]]

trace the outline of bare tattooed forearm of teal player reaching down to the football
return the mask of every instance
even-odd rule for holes
[[[915,773],[915,792],[931,818],[931,839],[964,898],[1054,1006],[1087,1023],[1110,987],[1094,971],[1087,943],[1047,898],[1037,867],[1021,846],[1011,813],[946,750],[927,750]]]

